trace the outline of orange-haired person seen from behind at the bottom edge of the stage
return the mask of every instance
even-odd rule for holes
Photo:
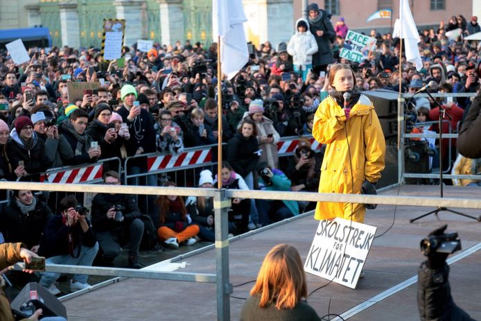
[[[251,297],[242,307],[241,321],[321,320],[307,298],[306,275],[296,248],[274,246],[265,256]]]

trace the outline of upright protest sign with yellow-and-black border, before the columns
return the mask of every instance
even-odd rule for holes
[[[124,19],[103,20],[103,37],[101,51],[103,60],[114,60],[122,57],[122,46],[124,37]]]

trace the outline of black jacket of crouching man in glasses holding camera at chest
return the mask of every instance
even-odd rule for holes
[[[116,222],[107,218],[107,211],[114,205],[122,205],[123,221]],[[106,232],[121,229],[125,224],[130,224],[134,218],[140,218],[141,212],[135,202],[135,197],[128,194],[101,194],[98,193],[92,200],[92,226],[95,232]]]

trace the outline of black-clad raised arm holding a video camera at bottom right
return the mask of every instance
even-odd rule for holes
[[[429,237],[421,241],[421,251],[428,257],[418,270],[417,304],[421,321],[474,321],[468,313],[458,307],[451,297],[449,285],[449,266],[446,259],[449,254],[461,250],[457,233],[445,234],[448,225],[435,229]],[[457,241],[457,242],[456,242]],[[438,251],[442,243],[451,248],[451,253]],[[436,248],[436,244],[439,245]]]

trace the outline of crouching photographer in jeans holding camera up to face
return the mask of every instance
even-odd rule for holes
[[[46,257],[46,263],[64,264],[69,266],[91,266],[98,252],[89,220],[85,217],[87,209],[78,206],[73,195],[66,196],[59,203],[60,214],[53,216],[47,223],[38,254]],[[60,290],[55,281],[60,273],[41,272],[40,285],[53,295]],[[70,290],[89,288],[88,275],[73,275],[70,280]]]

